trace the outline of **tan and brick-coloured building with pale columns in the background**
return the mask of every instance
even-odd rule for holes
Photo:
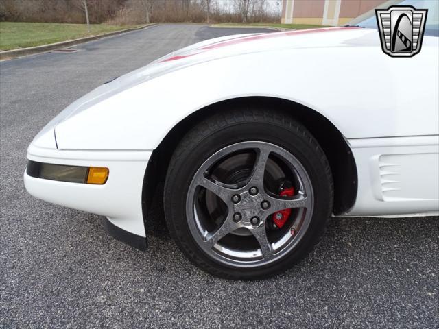
[[[345,25],[385,0],[283,0],[282,23]]]

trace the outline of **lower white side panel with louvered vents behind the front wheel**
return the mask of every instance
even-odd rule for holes
[[[439,136],[348,141],[358,173],[357,199],[345,215],[439,211]]]

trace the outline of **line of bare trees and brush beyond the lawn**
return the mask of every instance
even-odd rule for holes
[[[131,25],[152,22],[266,22],[281,0],[0,0],[1,21]],[[85,19],[84,19],[85,14]]]

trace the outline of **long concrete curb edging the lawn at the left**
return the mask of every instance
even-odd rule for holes
[[[117,34],[122,34],[125,32],[136,31],[137,29],[145,29],[146,27],[151,27],[157,25],[156,23],[142,25],[141,27],[134,27],[132,29],[121,29],[120,31],[108,32],[104,34],[98,34],[97,36],[86,36],[85,38],[79,38],[68,41],[61,41],[56,43],[49,43],[49,45],[42,45],[36,47],[27,47],[22,49],[12,49],[6,51],[0,51],[0,60],[10,60],[19,56],[32,55],[34,53],[44,53],[45,51],[54,50],[58,48],[70,47],[73,45],[79,45],[80,43],[97,40],[100,38],[105,38],[106,36],[116,36]]]

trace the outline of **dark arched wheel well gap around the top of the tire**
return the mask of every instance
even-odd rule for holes
[[[163,191],[161,188],[163,184],[161,183],[165,180],[169,160],[182,136],[191,127],[217,111],[224,108],[251,107],[252,105],[287,112],[289,116],[302,123],[311,132],[322,147],[331,166],[334,181],[334,214],[341,214],[352,208],[357,197],[357,168],[351,148],[346,143],[342,133],[322,114],[294,101],[273,97],[241,97],[206,106],[189,115],[172,128],[152,152],[143,181],[142,196],[143,215],[148,218],[148,221],[151,217],[151,209],[161,209],[151,207],[151,205],[153,202],[161,203],[162,201]],[[153,217],[163,219],[164,215],[154,214]]]

